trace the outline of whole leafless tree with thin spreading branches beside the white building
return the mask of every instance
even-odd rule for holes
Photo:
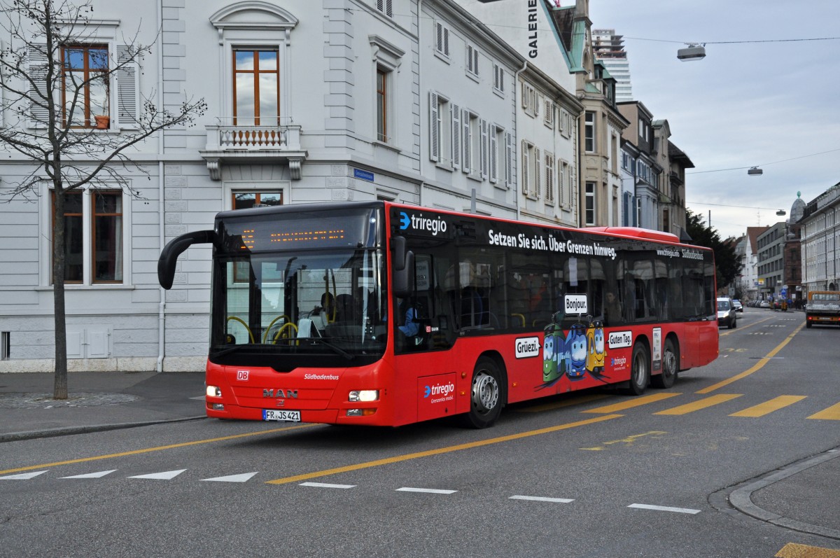
[[[0,50],[0,117],[4,119],[0,149],[16,151],[34,163],[32,171],[13,185],[8,201],[37,197],[39,184],[45,182],[54,199],[56,399],[67,398],[68,192],[86,185],[117,184],[136,197],[126,170],[130,167],[147,176],[148,171],[132,161],[134,148],[160,130],[194,125],[195,118],[207,110],[203,98],[185,98],[176,108],[159,107],[151,101],[155,95],[150,92],[139,103],[135,101],[134,108],[118,106],[118,111],[110,111],[112,100],[120,98],[113,87],[120,87],[120,79],[128,82],[139,77],[151,47],[140,45],[137,34],[122,41],[117,55],[107,46],[97,47],[103,41],[97,37],[92,12],[89,0],[0,0],[0,29],[8,40]],[[106,121],[113,114],[118,114],[119,130]],[[97,127],[110,131],[103,133]]]

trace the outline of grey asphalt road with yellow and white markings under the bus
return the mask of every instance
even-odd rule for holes
[[[203,420],[3,444],[0,470],[44,472],[0,482],[0,556],[835,552],[726,500],[840,446],[820,414],[840,403],[840,330],[803,324],[746,308],[669,390],[551,397],[486,430]]]

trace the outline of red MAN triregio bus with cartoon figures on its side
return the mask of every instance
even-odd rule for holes
[[[717,357],[711,250],[388,202],[218,213],[161,252],[171,288],[213,245],[207,415],[402,425],[621,383]]]

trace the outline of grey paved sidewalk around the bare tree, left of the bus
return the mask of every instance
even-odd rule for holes
[[[203,419],[204,372],[69,372],[68,397],[53,375],[0,374],[0,443]]]

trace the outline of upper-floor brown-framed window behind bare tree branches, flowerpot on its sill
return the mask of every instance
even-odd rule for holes
[[[93,128],[97,116],[109,116],[108,46],[61,48],[61,105],[65,125]]]

